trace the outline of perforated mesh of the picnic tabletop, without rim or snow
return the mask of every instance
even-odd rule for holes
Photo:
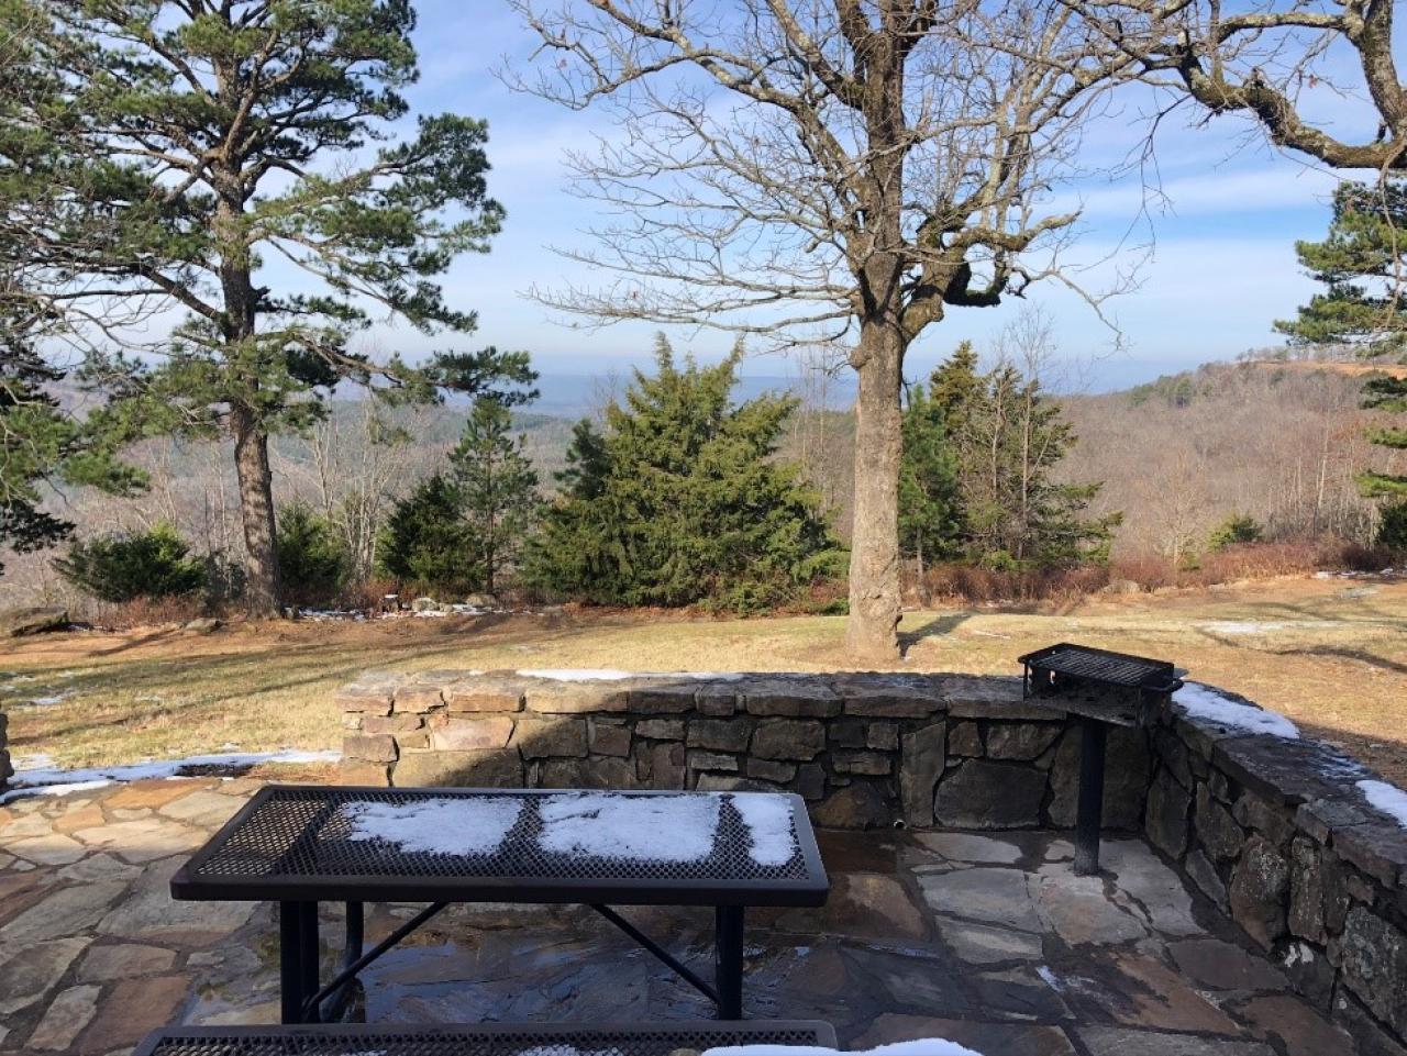
[[[542,880],[719,880],[765,882],[806,880],[809,870],[801,852],[795,814],[792,856],[778,866],[760,865],[750,854],[750,835],[727,794],[722,796],[719,824],[712,852],[699,861],[664,862],[567,855],[545,851],[537,844],[542,831],[539,803],[577,793],[523,794],[504,797],[525,803],[518,823],[491,854],[450,855],[405,851],[381,839],[350,839],[350,821],[342,813],[349,803],[405,806],[416,799],[495,796],[490,792],[452,789],[315,790],[276,787],[267,799],[235,827],[211,854],[194,863],[200,880],[259,877],[284,880],[301,877],[350,879],[484,879],[519,877]],[[622,793],[618,793],[622,794]]]

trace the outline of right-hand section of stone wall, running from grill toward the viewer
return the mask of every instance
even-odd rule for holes
[[[1150,842],[1363,1056],[1404,1056],[1407,830],[1358,787],[1376,776],[1320,741],[1251,734],[1176,706],[1152,738]]]

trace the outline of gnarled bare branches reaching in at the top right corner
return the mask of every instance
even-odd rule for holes
[[[1276,145],[1335,169],[1407,169],[1393,0],[1069,3],[1150,79],[1213,114],[1245,114]],[[1355,101],[1366,121],[1354,121]]]

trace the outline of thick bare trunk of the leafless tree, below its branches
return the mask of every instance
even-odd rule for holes
[[[899,655],[899,389],[905,339],[899,328],[864,321],[854,357],[855,520],[850,550],[850,622],[846,645],[861,659]]]

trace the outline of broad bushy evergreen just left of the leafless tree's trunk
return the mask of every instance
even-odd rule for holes
[[[740,359],[681,368],[657,340],[656,373],[636,371],[604,429],[577,426],[529,584],[601,605],[757,612],[840,572],[819,496],[774,458],[795,401],[734,405]]]

